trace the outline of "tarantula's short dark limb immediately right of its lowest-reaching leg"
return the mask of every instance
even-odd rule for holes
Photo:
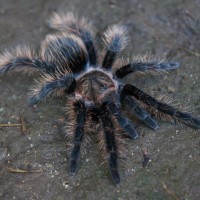
[[[126,133],[128,133],[132,139],[137,139],[138,134],[135,130],[135,125],[131,120],[121,114],[118,97],[114,96],[115,94],[113,96],[110,94],[110,97],[104,101],[102,106],[105,106],[108,112],[117,119],[119,125],[124,129]]]

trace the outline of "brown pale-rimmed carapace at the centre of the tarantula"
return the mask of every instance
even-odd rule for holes
[[[92,70],[77,80],[76,92],[86,101],[101,103],[102,98],[115,88],[115,82],[108,74],[100,70]]]

